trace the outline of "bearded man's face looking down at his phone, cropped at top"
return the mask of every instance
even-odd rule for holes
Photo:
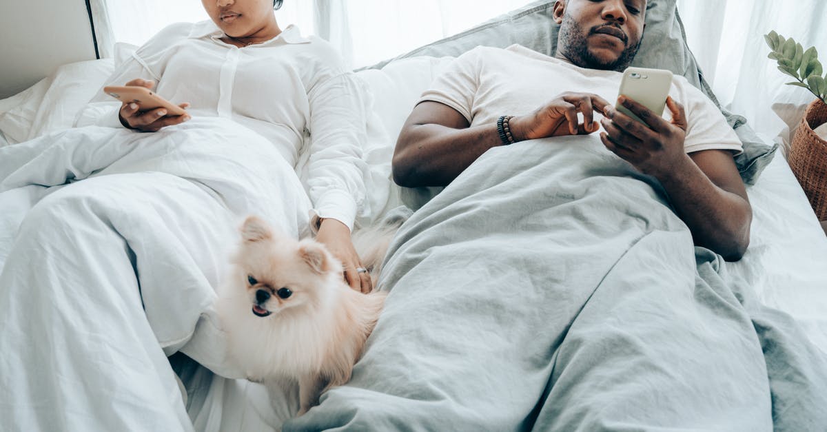
[[[554,7],[557,56],[584,68],[625,70],[640,47],[645,14],[646,0],[561,0]]]

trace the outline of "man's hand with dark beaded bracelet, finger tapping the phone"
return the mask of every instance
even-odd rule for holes
[[[564,93],[531,114],[509,121],[517,141],[564,135],[588,135],[598,129],[594,112],[604,113],[609,103],[596,94]],[[583,114],[583,122],[577,114]]]

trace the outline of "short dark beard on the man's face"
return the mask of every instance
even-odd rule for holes
[[[592,27],[588,34],[586,34],[586,32],[583,31],[583,27],[566,13],[563,15],[562,26],[560,27],[560,38],[557,43],[557,50],[559,51],[561,47],[565,47],[566,50],[562,51],[561,54],[565,55],[566,58],[571,60],[575,65],[584,68],[618,71],[625,70],[629,67],[629,64],[632,63],[634,55],[638,53],[643,37],[641,37],[638,43],[633,46],[629,46],[629,38],[627,36],[626,41],[624,41],[626,48],[622,53],[620,53],[617,60],[606,62],[605,60],[600,60],[595,57],[595,55],[591,54],[589,51],[589,44],[586,41],[586,36],[593,34],[597,28],[599,28],[599,26]]]

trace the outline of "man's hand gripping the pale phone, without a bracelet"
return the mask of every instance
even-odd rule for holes
[[[606,132],[600,140],[615,155],[629,161],[643,174],[663,180],[664,175],[676,167],[691,162],[684,150],[686,138],[686,112],[672,97],[667,98],[667,107],[672,112],[672,122],[632,99],[620,96],[618,102],[637,115],[651,127],[634,121],[614,107],[607,107],[601,124]]]

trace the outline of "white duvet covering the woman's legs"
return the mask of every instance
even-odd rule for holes
[[[192,429],[166,355],[239,377],[211,306],[238,219],[298,235],[310,209],[269,142],[217,118],[0,148],[0,206],[3,235],[17,232],[0,242],[11,430]]]

